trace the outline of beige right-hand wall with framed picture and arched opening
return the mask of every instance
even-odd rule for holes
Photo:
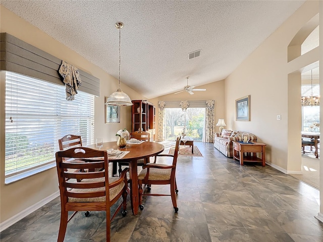
[[[318,12],[318,2],[308,1],[301,6],[285,23],[268,37],[241,65],[226,79],[226,124],[236,130],[249,131],[267,144],[266,161],[283,171],[300,171],[300,81],[288,82],[288,75],[302,67],[318,61],[318,49],[314,49],[294,61],[287,63],[287,46],[300,28]],[[299,78],[298,78],[299,79]],[[293,92],[298,92],[296,95]],[[250,95],[250,122],[235,121],[235,99]],[[299,110],[291,115],[292,110]],[[277,120],[277,115],[282,119]],[[290,129],[289,124],[297,122]],[[295,135],[296,134],[296,135]],[[293,144],[288,145],[289,137]],[[297,156],[298,167],[288,153]],[[292,167],[293,170],[288,170]]]

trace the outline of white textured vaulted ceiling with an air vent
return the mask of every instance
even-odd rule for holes
[[[304,2],[1,0],[1,5],[117,79],[115,23],[123,22],[121,82],[149,99],[183,88],[187,76],[197,87],[223,80]],[[201,55],[188,59],[198,49]]]

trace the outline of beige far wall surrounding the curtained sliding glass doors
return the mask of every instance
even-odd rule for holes
[[[214,122],[217,124],[219,118],[225,118],[225,82],[224,80],[198,86],[196,88],[205,88],[206,91],[195,91],[194,94],[181,92],[178,94],[168,94],[153,98],[150,101],[156,106],[156,115],[158,115],[158,101],[182,101],[182,100],[214,100]],[[180,107],[180,106],[179,106]],[[225,120],[226,121],[226,120]],[[156,120],[157,122],[157,120]],[[226,123],[227,124],[227,123]],[[228,124],[227,124],[228,125]],[[230,128],[227,126],[226,128]],[[216,132],[219,132],[219,127],[215,127]],[[156,123],[156,139],[157,139],[157,123]]]

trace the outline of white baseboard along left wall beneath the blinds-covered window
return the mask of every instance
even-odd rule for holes
[[[48,197],[40,200],[39,202],[33,204],[32,206],[26,208],[25,210],[21,211],[20,213],[16,214],[15,216],[13,216],[13,217],[7,219],[6,221],[0,223],[0,232],[5,230],[6,228],[9,228],[11,225],[17,223],[19,220],[21,220],[24,217],[28,216],[29,214],[31,214],[32,212],[34,212],[37,209],[41,208],[42,206],[44,206],[45,204],[47,204],[51,200],[57,198],[58,196],[60,196],[60,191],[57,191],[57,192],[49,195]]]

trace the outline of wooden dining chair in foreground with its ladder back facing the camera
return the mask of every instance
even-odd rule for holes
[[[102,160],[103,157],[103,160]],[[66,160],[69,158],[69,160]],[[74,162],[91,158],[92,162]],[[95,161],[97,159],[97,161]],[[94,160],[94,161],[93,161]],[[105,211],[106,212],[106,241],[110,241],[111,220],[116,216],[121,207],[122,215],[127,214],[127,176],[129,168],[122,171],[120,177],[109,177],[109,163],[106,150],[94,150],[86,147],[74,147],[56,153],[57,173],[61,196],[61,223],[58,242],[63,242],[67,223],[79,211]],[[76,169],[79,172],[70,172]],[[80,172],[80,170],[96,170],[93,172]],[[77,182],[76,180],[81,180]],[[110,219],[110,208],[119,198],[122,202]],[[68,217],[69,211],[74,213]]]

